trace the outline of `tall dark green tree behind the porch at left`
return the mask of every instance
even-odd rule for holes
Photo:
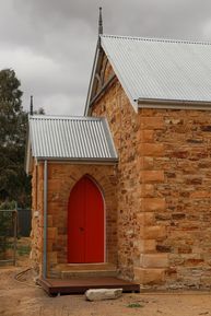
[[[14,70],[0,71],[0,202],[27,207],[31,179],[24,172],[27,114],[22,108],[21,83]]]

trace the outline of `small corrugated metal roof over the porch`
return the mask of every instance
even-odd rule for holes
[[[32,156],[65,160],[117,160],[105,118],[30,116]]]

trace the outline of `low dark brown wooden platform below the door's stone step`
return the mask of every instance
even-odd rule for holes
[[[71,280],[40,278],[38,284],[48,295],[84,294],[89,289],[122,289],[122,292],[140,292],[140,284],[112,277]]]

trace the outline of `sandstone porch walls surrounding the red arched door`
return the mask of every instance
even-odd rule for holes
[[[39,184],[36,207],[36,175],[33,173],[33,250],[36,268],[42,272],[43,260],[43,163],[38,164]],[[67,264],[67,224],[70,191],[84,175],[91,176],[99,188],[106,206],[106,261],[117,264],[117,211],[116,211],[116,166],[48,162],[48,277],[60,277],[61,266]],[[35,212],[33,211],[33,214]]]

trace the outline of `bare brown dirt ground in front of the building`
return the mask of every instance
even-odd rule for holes
[[[0,267],[0,315],[2,316],[153,316],[211,315],[211,293],[124,294],[118,300],[87,302],[84,295],[49,297],[33,282],[32,271],[19,281],[15,276],[28,266],[26,254],[17,267]]]

